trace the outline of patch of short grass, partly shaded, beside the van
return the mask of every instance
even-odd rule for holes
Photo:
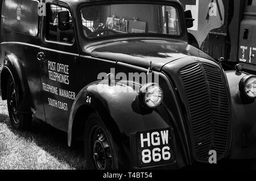
[[[0,169],[86,169],[82,147],[76,142],[69,148],[66,133],[36,120],[31,131],[15,131],[0,97]]]

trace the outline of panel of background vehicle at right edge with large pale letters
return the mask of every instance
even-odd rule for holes
[[[240,27],[238,60],[244,68],[256,71],[256,0],[247,0]]]

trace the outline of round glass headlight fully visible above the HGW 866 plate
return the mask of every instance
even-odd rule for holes
[[[158,107],[163,101],[163,90],[156,83],[147,83],[139,91],[139,99],[144,106]]]

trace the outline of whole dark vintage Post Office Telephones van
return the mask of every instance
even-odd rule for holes
[[[90,6],[103,9],[122,3],[160,7],[158,12],[172,6],[181,31],[176,27],[169,28],[169,35],[144,33],[152,23],[144,30],[133,28],[128,35],[104,37],[105,31],[115,30],[103,28],[94,39],[85,36],[88,28],[82,26],[81,17],[97,15],[86,17],[95,24],[105,15],[86,11]],[[57,19],[69,12],[70,17],[59,23],[63,29],[69,24],[67,30],[56,26],[52,19],[56,11]],[[145,12],[126,18],[129,23],[122,31],[150,21]],[[177,0],[3,0],[1,95],[7,99],[14,128],[28,128],[34,116],[67,132],[69,146],[84,138],[89,169],[179,169],[208,163],[210,150],[216,151],[217,161],[255,158],[256,102],[242,91],[243,84],[255,77],[239,70],[225,72],[213,58],[188,45],[183,12]],[[177,23],[175,18],[169,20],[172,26]],[[100,73],[106,73],[104,80],[98,78]],[[159,93],[154,92],[155,99],[162,96],[162,102],[146,106],[141,79],[125,81],[115,76],[118,73],[158,77],[158,86],[152,81],[146,87],[154,87]],[[130,92],[119,91],[123,89]]]

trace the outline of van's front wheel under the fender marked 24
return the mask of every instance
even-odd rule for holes
[[[111,134],[101,117],[92,113],[85,125],[84,150],[90,170],[117,170],[118,162],[113,149]]]

